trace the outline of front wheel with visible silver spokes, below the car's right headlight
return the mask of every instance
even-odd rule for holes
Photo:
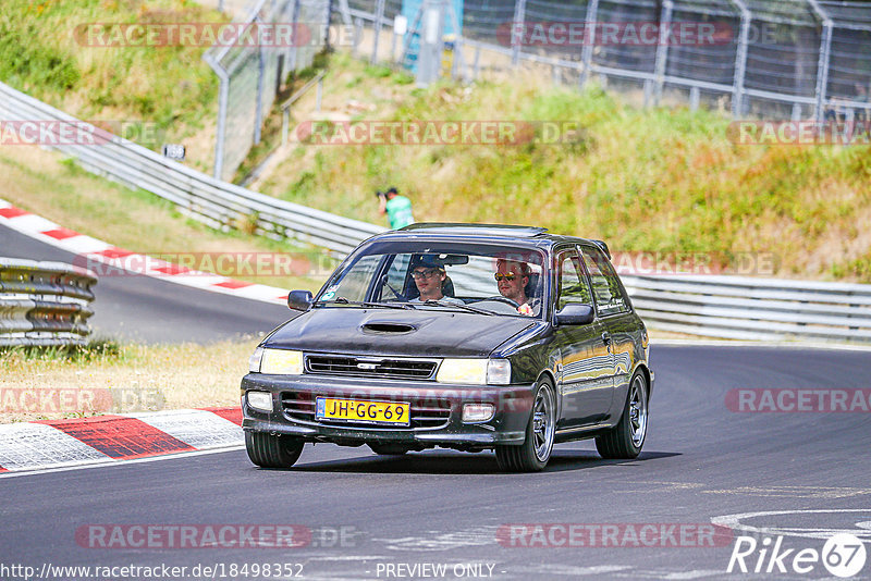
[[[519,446],[496,446],[496,463],[504,472],[538,472],[548,466],[556,431],[556,393],[542,380],[532,398],[526,438]]]

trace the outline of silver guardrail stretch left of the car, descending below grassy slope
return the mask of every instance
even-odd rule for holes
[[[0,120],[87,125],[2,83]],[[51,147],[77,158],[94,173],[160,196],[179,206],[182,213],[219,230],[252,227],[262,236],[291,238],[342,254],[387,230],[216,180],[120,137],[112,136],[99,145]]]

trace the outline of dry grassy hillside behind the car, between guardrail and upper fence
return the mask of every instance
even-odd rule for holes
[[[396,185],[418,220],[543,225],[624,251],[770,252],[776,274],[871,282],[871,148],[738,146],[728,119],[640,110],[535,78],[443,83],[333,58],[324,114],[353,120],[577,121],[562,145],[298,144],[261,191],[370,222]],[[351,100],[353,107],[348,103]],[[297,115],[298,120],[320,119]]]

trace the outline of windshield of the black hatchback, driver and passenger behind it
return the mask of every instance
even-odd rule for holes
[[[504,245],[382,243],[353,255],[317,305],[540,318],[544,263],[540,250]]]

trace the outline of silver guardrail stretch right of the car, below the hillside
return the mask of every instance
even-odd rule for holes
[[[651,329],[711,337],[871,343],[871,285],[741,276],[622,276]]]

